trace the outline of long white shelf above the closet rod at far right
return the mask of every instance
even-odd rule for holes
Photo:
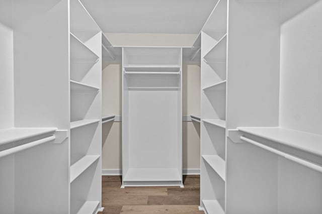
[[[238,127],[237,129],[241,132],[322,156],[322,135],[280,127]]]

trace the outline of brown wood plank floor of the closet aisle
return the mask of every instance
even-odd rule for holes
[[[184,176],[180,187],[125,187],[121,176],[102,177],[102,206],[99,214],[119,213],[204,213],[198,210],[200,195],[199,175]]]

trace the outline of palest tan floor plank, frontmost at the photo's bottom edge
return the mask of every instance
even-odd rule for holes
[[[204,213],[198,205],[124,205],[121,213],[158,214],[158,213]]]

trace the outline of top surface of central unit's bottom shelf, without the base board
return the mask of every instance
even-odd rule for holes
[[[181,181],[178,168],[129,168],[124,181]]]

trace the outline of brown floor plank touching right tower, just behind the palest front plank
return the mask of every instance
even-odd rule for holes
[[[191,195],[148,196],[147,205],[199,205],[200,198]]]

